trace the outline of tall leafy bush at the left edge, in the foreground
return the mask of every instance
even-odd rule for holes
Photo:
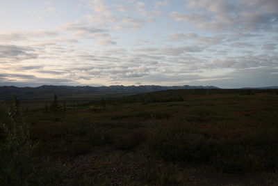
[[[17,102],[12,105],[1,103],[0,127],[3,132],[0,155],[1,185],[28,185],[33,176],[31,143],[22,110]]]

